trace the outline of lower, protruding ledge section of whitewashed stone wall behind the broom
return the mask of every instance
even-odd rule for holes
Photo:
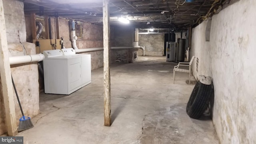
[[[26,48],[24,50],[22,44]],[[23,56],[24,53],[36,54],[36,46],[32,43],[22,42],[8,44],[9,56]],[[34,117],[39,114],[39,83],[38,83],[38,65],[37,62],[26,64],[11,65],[12,77],[20,98],[22,109],[25,116]],[[16,111],[16,122],[22,117],[20,107],[14,92],[14,102]],[[7,131],[5,125],[5,109],[2,96],[0,94],[0,135]]]

